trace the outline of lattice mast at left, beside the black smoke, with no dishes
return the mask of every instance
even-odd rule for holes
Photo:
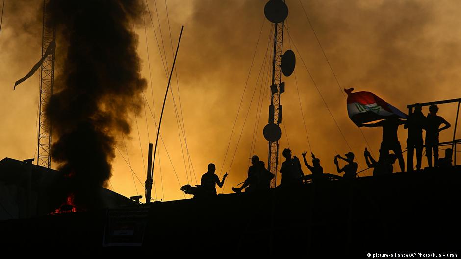
[[[50,43],[56,40],[56,29],[51,12],[47,10],[53,0],[43,1],[43,31],[42,56]],[[51,123],[45,116],[45,107],[53,95],[54,85],[54,51],[42,63],[40,70],[40,107],[38,121],[38,154],[37,165],[50,168],[51,166]]]

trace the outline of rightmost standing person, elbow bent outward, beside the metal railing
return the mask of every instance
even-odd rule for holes
[[[438,133],[448,129],[451,125],[444,118],[437,115],[437,105],[429,106],[429,114],[427,115],[426,128],[426,156],[427,164],[432,167],[432,152],[434,151],[434,167],[438,165]],[[442,128],[440,125],[445,124]]]

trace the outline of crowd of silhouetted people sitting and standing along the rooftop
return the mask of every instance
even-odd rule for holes
[[[402,147],[398,140],[397,130],[400,125],[404,125],[404,128],[408,129],[407,137],[407,152],[409,152],[408,170],[413,170],[413,156],[414,150],[416,150],[416,169],[421,169],[421,160],[423,155],[423,147],[426,147],[426,157],[428,160],[428,166],[446,168],[452,165],[453,150],[447,148],[445,150],[445,157],[438,158],[438,147],[439,147],[439,132],[448,129],[451,125],[444,118],[437,115],[438,107],[431,105],[429,107],[429,114],[424,116],[422,113],[422,107],[416,105],[414,111],[410,113],[406,120],[389,117],[383,119],[377,123],[362,124],[363,127],[382,127],[383,128],[383,140],[380,146],[379,158],[376,161],[370,152],[365,148],[364,157],[368,168],[373,168],[373,175],[384,175],[391,174],[394,170],[393,164],[396,160],[399,161],[401,172],[405,171],[405,161],[402,155]],[[440,126],[444,124],[443,127]],[[426,138],[423,141],[423,130],[426,131]],[[393,153],[390,153],[392,151]],[[312,173],[312,179],[319,179],[323,174],[323,168],[320,165],[320,159],[315,157],[311,152],[312,165],[309,165],[306,159],[307,152],[302,153],[304,164]],[[282,163],[279,172],[281,173],[281,186],[290,186],[301,184],[302,179],[305,176],[302,170],[301,162],[296,156],[292,156],[291,150],[285,148],[282,151],[282,156],[285,161]],[[434,157],[434,160],[433,160]],[[344,173],[345,179],[354,179],[357,176],[358,164],[354,162],[355,155],[352,152],[348,152],[342,157],[336,155],[334,157],[334,164],[339,174]],[[346,162],[342,168],[339,166],[339,160]],[[270,188],[271,180],[274,178],[274,174],[271,173],[263,161],[259,160],[258,156],[251,158],[252,165],[248,168],[248,177],[244,182],[240,183],[240,187],[233,187],[234,192],[241,192],[245,189],[245,192],[256,192],[267,190]],[[216,167],[214,164],[208,165],[208,171],[202,176],[201,185],[198,186],[197,190],[193,190],[190,194],[200,194],[200,196],[216,196],[216,185],[222,187],[227,177],[227,173],[224,174],[222,180],[214,173]],[[239,185],[240,185],[239,184]],[[186,186],[187,187],[187,186]],[[183,187],[184,188],[184,187]],[[191,189],[192,187],[188,186]],[[187,189],[186,188],[186,189]],[[183,189],[184,190],[184,189]],[[186,190],[184,190],[188,193]]]

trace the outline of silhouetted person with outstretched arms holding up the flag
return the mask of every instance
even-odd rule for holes
[[[383,127],[383,141],[380,147],[380,157],[387,156],[389,150],[392,150],[399,159],[401,172],[405,172],[405,161],[402,155],[402,146],[400,146],[399,138],[397,137],[397,130],[399,125],[405,124],[405,121],[398,118],[386,118],[379,122],[372,124],[362,124],[360,127]]]

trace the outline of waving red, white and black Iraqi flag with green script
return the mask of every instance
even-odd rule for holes
[[[407,118],[406,114],[371,92],[352,91],[354,88],[344,89],[347,94],[347,113],[357,126],[389,117]]]

